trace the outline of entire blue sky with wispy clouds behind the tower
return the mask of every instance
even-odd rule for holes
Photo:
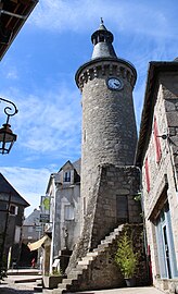
[[[135,64],[134,101],[139,130],[150,61],[178,57],[177,0],[39,0],[0,64],[0,97],[18,113],[11,119],[17,142],[0,156],[1,173],[39,206],[50,173],[80,157],[81,107],[77,69],[92,53],[100,17],[114,34],[117,57]],[[5,120],[0,103],[0,124]]]

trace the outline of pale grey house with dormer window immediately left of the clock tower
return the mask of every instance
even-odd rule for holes
[[[60,259],[61,269],[65,271],[80,234],[80,160],[73,163],[68,160],[58,173],[52,173],[46,195],[50,198],[47,231],[52,232],[46,272],[52,272],[55,259]]]

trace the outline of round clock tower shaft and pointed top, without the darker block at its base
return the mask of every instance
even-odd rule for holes
[[[101,21],[91,36],[92,58],[76,73],[82,95],[82,216],[96,183],[96,169],[103,163],[134,164],[137,130],[132,89],[137,72],[131,63],[117,58],[113,39]]]

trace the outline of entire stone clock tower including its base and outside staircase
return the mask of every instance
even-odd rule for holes
[[[135,200],[140,189],[140,170],[134,166],[137,130],[132,90],[137,72],[130,62],[117,58],[113,39],[101,21],[91,36],[91,60],[75,76],[82,107],[81,233],[69,259],[67,279],[53,290],[56,294],[66,289],[123,286],[114,256],[126,226],[140,250],[137,283],[145,283],[141,209]]]

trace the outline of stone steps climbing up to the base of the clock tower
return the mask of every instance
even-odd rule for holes
[[[109,236],[102,240],[97,248],[94,248],[92,252],[87,253],[87,255],[78,261],[76,268],[74,268],[68,273],[67,279],[63,279],[62,283],[58,285],[58,289],[53,289],[52,291],[50,291],[50,293],[63,294],[67,292],[88,290],[87,283],[90,283],[91,285],[92,270],[94,268],[99,269],[97,262],[102,262],[102,260],[105,259],[104,255],[107,254],[112,245],[117,244],[117,240],[123,228],[124,225],[120,224],[112,233],[110,233]],[[49,293],[49,291],[43,290],[43,293]]]

